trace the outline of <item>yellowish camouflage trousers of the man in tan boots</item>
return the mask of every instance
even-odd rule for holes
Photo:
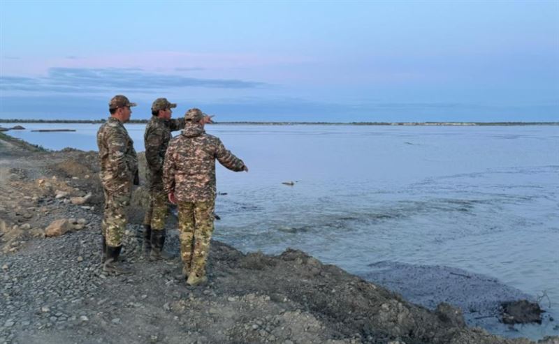
[[[215,201],[179,202],[180,254],[184,267],[197,276],[205,275],[214,231]]]

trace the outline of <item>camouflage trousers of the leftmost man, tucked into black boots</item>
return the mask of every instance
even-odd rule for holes
[[[103,188],[105,194],[105,211],[101,221],[101,232],[108,246],[122,245],[126,230],[126,207],[130,204],[129,193],[110,193]]]

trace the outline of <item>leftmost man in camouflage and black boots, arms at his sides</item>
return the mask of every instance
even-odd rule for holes
[[[115,96],[109,102],[110,117],[97,132],[101,184],[105,194],[103,234],[103,270],[130,272],[118,257],[126,228],[126,206],[130,204],[132,184],[138,185],[138,158],[133,141],[123,124],[129,121],[131,103],[125,96]]]

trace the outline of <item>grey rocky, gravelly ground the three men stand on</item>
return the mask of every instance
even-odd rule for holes
[[[141,254],[143,188],[123,253],[135,272],[108,276],[98,170],[93,152],[0,136],[0,343],[533,343],[466,327],[458,308],[429,311],[298,250],[243,254],[213,241],[209,283],[187,287],[178,259]],[[63,218],[75,219],[68,232],[45,237]]]

